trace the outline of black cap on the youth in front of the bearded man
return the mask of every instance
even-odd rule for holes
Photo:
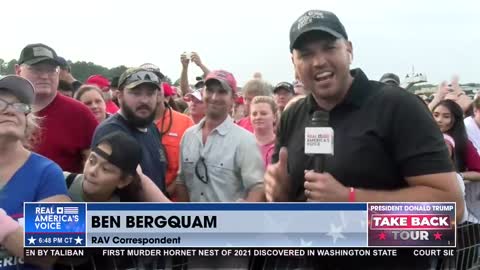
[[[112,148],[111,154],[98,148],[104,143]],[[142,160],[142,148],[139,143],[122,131],[115,131],[102,137],[93,152],[130,175],[137,174],[137,167]]]

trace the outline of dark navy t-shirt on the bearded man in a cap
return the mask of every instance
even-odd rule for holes
[[[143,173],[150,177],[160,190],[166,193],[165,172],[167,159],[165,150],[161,144],[160,134],[153,123],[148,126],[146,132],[142,132],[135,127],[129,126],[127,120],[120,114],[114,114],[103,121],[95,130],[92,148],[94,148],[105,135],[119,130],[132,136],[140,144],[142,147],[140,166],[142,167]]]

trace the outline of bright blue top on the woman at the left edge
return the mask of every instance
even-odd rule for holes
[[[0,190],[0,208],[24,226],[23,203],[38,202],[55,195],[67,195],[65,178],[60,167],[48,158],[32,153]],[[0,247],[0,270],[40,269],[23,265],[23,260],[10,256]]]

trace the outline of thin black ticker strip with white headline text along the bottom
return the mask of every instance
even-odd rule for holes
[[[25,257],[451,257],[454,248],[25,248]]]

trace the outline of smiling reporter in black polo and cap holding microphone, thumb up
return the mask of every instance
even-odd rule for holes
[[[335,14],[304,13],[290,29],[290,50],[309,94],[282,114],[273,164],[265,173],[268,201],[457,202],[462,215],[455,172],[430,112],[413,94],[350,70],[352,43]],[[323,152],[312,151],[310,136],[325,138]],[[343,269],[351,260],[328,262]],[[428,261],[388,265],[424,269]]]

